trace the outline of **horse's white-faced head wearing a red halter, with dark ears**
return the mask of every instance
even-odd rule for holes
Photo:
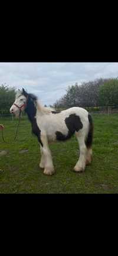
[[[28,100],[28,93],[25,92],[24,89],[18,90],[16,97],[15,97],[15,102],[10,108],[10,113],[15,114],[15,116],[19,116],[19,112],[24,111],[24,109],[27,106],[27,100]]]

